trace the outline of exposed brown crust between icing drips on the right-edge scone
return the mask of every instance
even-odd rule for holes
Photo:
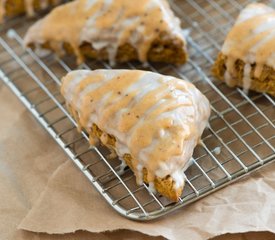
[[[212,73],[220,80],[224,81],[224,74],[226,71],[226,62],[227,57],[222,53],[219,53],[218,58],[212,68]],[[243,69],[245,63],[242,60],[237,60],[235,62],[236,70],[236,86],[243,86]],[[265,92],[275,96],[275,70],[272,67],[264,66],[261,76],[255,77],[254,71],[256,64],[252,65],[252,70],[250,73],[251,86],[250,89],[256,92]]]

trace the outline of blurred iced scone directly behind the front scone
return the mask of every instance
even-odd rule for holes
[[[35,23],[25,45],[85,57],[184,63],[180,21],[166,0],[75,0]]]

